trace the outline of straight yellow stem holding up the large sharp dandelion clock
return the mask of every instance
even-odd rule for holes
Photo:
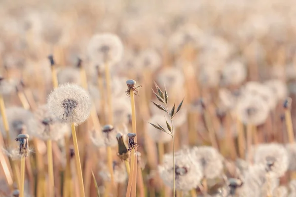
[[[82,177],[82,170],[81,170],[81,163],[80,163],[80,157],[79,157],[78,142],[77,142],[77,136],[76,136],[76,131],[75,131],[74,123],[71,124],[71,129],[72,129],[72,136],[73,136],[73,143],[74,143],[74,151],[75,151],[76,170],[77,170],[77,176],[78,176],[78,182],[79,182],[79,192],[80,192],[80,197],[84,197],[83,177]]]

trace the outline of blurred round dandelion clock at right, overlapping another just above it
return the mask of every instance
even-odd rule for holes
[[[237,102],[235,113],[244,124],[261,125],[269,114],[269,107],[258,96],[246,95]]]

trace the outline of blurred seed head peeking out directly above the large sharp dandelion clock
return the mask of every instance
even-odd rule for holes
[[[59,84],[72,83],[81,85],[80,71],[78,68],[61,68],[57,73],[57,77]]]

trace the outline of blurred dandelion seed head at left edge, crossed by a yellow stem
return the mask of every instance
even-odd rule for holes
[[[28,121],[33,117],[33,114],[22,107],[8,107],[5,111],[9,126],[10,139],[15,139],[23,130],[27,130],[29,127]],[[0,117],[0,130],[3,137],[6,138],[6,131],[4,129],[2,117]]]

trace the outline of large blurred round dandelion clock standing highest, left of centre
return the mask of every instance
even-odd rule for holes
[[[115,34],[95,34],[89,41],[87,52],[93,63],[113,65],[121,60],[123,45],[120,38]]]

